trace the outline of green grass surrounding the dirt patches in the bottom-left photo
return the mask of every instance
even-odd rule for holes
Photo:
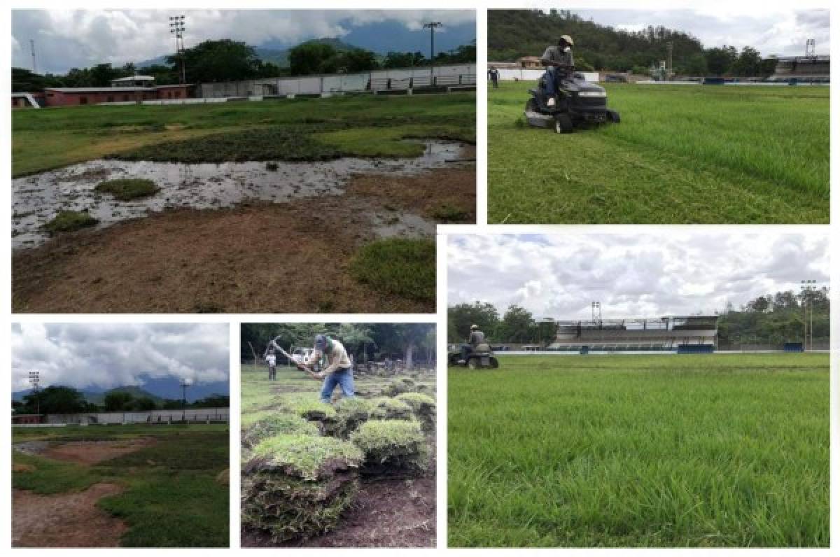
[[[123,547],[228,547],[228,485],[217,481],[228,468],[226,424],[13,428],[12,434],[13,443],[137,437],[157,443],[91,466],[15,450],[13,463],[34,470],[13,472],[12,486],[50,495],[115,482],[125,491],[98,505],[128,524]]]

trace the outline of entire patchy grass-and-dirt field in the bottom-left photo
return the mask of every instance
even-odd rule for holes
[[[227,425],[13,428],[13,547],[228,547]]]

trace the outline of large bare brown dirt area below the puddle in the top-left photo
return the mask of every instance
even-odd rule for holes
[[[156,213],[65,234],[13,253],[13,310],[431,313],[433,302],[378,292],[348,266],[375,239],[371,212],[424,211],[437,195],[474,220],[475,167],[359,176],[342,196]]]

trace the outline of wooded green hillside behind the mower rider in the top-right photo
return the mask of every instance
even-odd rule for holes
[[[769,76],[776,61],[762,60],[745,46],[704,48],[690,33],[648,25],[638,31],[615,29],[568,10],[500,9],[487,13],[487,60],[514,61],[538,56],[556,45],[562,34],[575,40],[575,66],[582,71],[633,71],[644,74],[666,60],[674,45],[673,64],[682,76]]]

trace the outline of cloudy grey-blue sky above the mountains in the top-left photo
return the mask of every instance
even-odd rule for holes
[[[423,22],[475,24],[475,10],[13,10],[13,66],[31,68],[29,39],[35,41],[38,71],[63,73],[71,67],[150,60],[171,54],[169,16],[186,17],[186,47],[207,39],[242,40],[249,45],[280,41],[295,45],[320,37],[346,37],[369,24],[399,22],[403,29]],[[475,38],[475,37],[473,37]],[[449,47],[451,48],[451,47]]]

